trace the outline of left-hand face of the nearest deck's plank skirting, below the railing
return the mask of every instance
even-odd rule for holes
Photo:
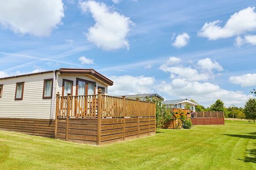
[[[66,126],[65,118],[57,119],[57,139],[84,144],[97,144],[97,119],[68,119],[68,134],[66,134]]]

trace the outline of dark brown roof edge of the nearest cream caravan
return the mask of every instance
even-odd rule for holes
[[[108,79],[107,77],[103,76],[99,72],[95,71],[94,69],[70,69],[70,68],[60,68],[56,70],[50,70],[50,71],[45,71],[45,72],[35,72],[35,73],[30,73],[30,74],[23,74],[19,76],[10,76],[10,77],[3,77],[1,79],[10,79],[10,78],[15,78],[15,77],[23,77],[23,76],[32,76],[32,75],[37,75],[37,74],[44,74],[48,72],[54,72],[54,71],[59,71],[60,74],[90,74],[99,80],[102,80],[104,83],[108,84],[109,86],[113,85],[113,81]]]

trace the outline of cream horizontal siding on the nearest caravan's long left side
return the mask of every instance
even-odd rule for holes
[[[53,72],[0,80],[4,84],[0,98],[0,117],[50,119],[51,100],[43,99],[45,79],[52,79]],[[15,100],[16,83],[24,83],[23,100]]]

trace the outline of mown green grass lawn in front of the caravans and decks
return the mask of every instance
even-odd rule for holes
[[[0,169],[256,169],[256,123],[159,130],[105,146],[0,131]]]

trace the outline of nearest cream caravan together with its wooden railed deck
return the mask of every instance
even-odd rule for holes
[[[155,104],[109,96],[112,85],[94,69],[0,78],[0,130],[94,145],[155,134]]]

